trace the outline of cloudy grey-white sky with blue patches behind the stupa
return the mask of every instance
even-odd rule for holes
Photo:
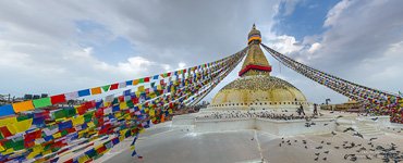
[[[0,93],[50,95],[211,62],[264,43],[347,80],[403,90],[401,0],[0,1]],[[346,98],[280,65],[309,101]],[[237,77],[240,67],[207,96]]]

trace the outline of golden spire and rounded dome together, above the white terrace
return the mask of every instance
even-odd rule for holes
[[[248,52],[240,78],[224,86],[212,99],[216,109],[284,109],[307,104],[305,96],[290,83],[270,76],[271,66],[260,49],[255,24],[247,38]]]

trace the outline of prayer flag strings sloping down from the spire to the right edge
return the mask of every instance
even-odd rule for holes
[[[363,106],[375,115],[390,115],[391,122],[403,124],[403,98],[401,95],[368,88],[340,77],[309,67],[276,50],[262,47],[279,62],[297,73],[323,85],[350,99],[363,103]]]

